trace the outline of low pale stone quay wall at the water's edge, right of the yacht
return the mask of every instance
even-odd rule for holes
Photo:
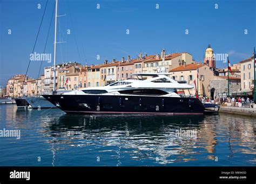
[[[220,106],[219,112],[228,114],[256,117],[256,108]]]

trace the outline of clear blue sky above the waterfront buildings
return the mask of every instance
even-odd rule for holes
[[[45,4],[46,0],[0,0],[0,86],[12,75],[26,72]],[[49,0],[37,53],[43,53],[54,4]],[[66,16],[58,18],[58,41],[66,43],[57,45],[57,62],[98,64],[127,55],[136,58],[139,52],[156,54],[162,48],[167,53],[189,52],[201,61],[211,44],[215,53],[229,53],[231,63],[237,63],[251,56],[255,46],[255,7],[253,0],[59,0],[59,15]],[[71,34],[66,34],[68,29]],[[52,22],[46,45],[46,53],[52,55],[53,32]],[[31,61],[28,75],[37,77],[39,66],[40,61]],[[49,63],[44,61],[44,66]],[[217,67],[224,66],[217,61]]]

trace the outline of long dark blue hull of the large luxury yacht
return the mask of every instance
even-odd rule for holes
[[[83,114],[203,114],[198,98],[118,95],[43,95],[66,113]]]

